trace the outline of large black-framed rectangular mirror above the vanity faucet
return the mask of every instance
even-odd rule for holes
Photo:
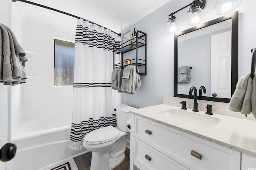
[[[174,97],[228,103],[237,80],[238,11],[174,34]]]

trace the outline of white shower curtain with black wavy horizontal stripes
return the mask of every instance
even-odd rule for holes
[[[116,127],[112,103],[113,45],[120,44],[108,29],[78,20],[75,41],[75,68],[70,148],[81,149],[84,136],[95,129]]]

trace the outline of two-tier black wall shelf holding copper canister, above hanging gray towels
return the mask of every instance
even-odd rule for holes
[[[121,45],[114,44],[114,53],[113,53],[114,68],[117,68],[117,67],[124,68],[129,64],[133,64],[133,65],[136,65],[136,72],[138,74],[146,75],[147,74],[147,69],[146,69],[147,34],[142,31],[138,31],[138,33],[139,33],[138,37],[129,39],[128,41],[122,43]],[[129,52],[129,55],[127,56],[126,54],[128,54],[128,52]],[[121,54],[120,55],[121,63],[115,62],[115,53]],[[124,55],[126,55],[130,60],[124,61],[125,60]],[[139,71],[137,70],[138,67],[139,67]]]

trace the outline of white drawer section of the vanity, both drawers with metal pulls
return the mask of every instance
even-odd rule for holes
[[[138,115],[131,121],[130,170],[240,170],[238,151]]]

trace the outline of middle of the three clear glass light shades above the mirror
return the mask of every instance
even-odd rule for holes
[[[192,7],[188,12],[187,24],[197,25],[204,20],[204,11],[198,6]]]

